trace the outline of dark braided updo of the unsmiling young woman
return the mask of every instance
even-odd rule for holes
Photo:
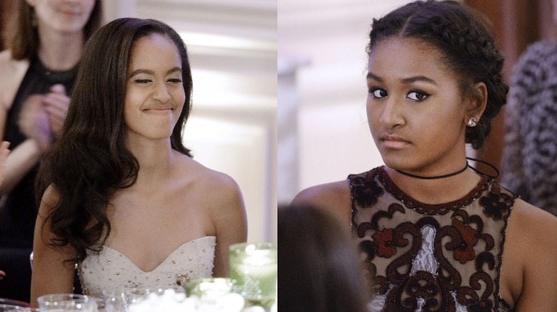
[[[486,110],[476,127],[466,127],[466,143],[480,148],[491,130],[491,119],[506,103],[508,85],[503,82],[503,55],[476,11],[456,1],[415,1],[381,19],[373,19],[366,52],[383,39],[418,38],[433,44],[442,61],[460,79],[461,92],[470,94],[475,83],[487,86]],[[471,93],[473,95],[473,93]]]

